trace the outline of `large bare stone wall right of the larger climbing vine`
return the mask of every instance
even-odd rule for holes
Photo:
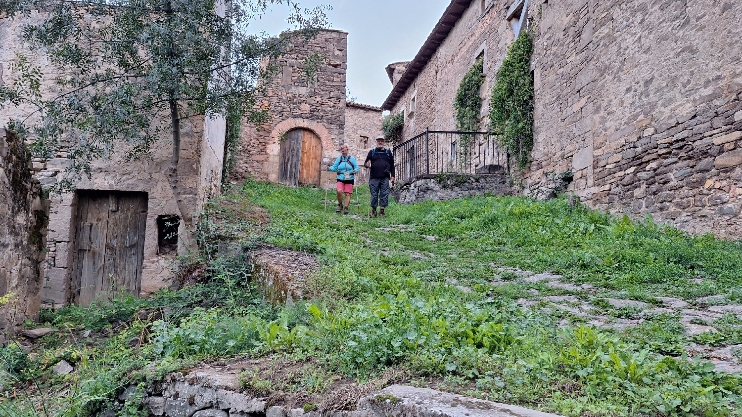
[[[742,3],[581,0],[533,12],[525,185],[571,168],[568,190],[593,207],[741,238]]]

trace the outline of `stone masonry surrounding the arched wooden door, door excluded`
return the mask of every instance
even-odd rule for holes
[[[260,127],[243,125],[234,179],[278,182],[280,140],[303,128],[321,139],[321,187],[335,187],[335,173],[326,166],[340,156],[340,147],[347,144],[358,158],[360,136],[381,131],[381,109],[346,102],[347,37],[341,30],[322,30],[309,41],[295,39],[286,54],[265,63],[279,68],[257,104],[269,110],[270,119]],[[306,58],[315,53],[323,62],[316,79],[308,80]]]

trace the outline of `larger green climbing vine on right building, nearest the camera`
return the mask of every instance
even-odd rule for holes
[[[533,149],[533,74],[529,70],[532,52],[529,33],[521,33],[510,44],[497,71],[490,104],[490,128],[521,170],[530,164]]]

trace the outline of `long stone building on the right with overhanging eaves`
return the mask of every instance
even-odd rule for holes
[[[739,238],[741,15],[738,1],[453,0],[415,59],[387,67],[382,107],[405,113],[405,138],[455,130],[456,90],[482,57],[486,130],[496,70],[528,30],[526,195],[548,195],[548,175],[572,170],[568,192],[591,207]]]

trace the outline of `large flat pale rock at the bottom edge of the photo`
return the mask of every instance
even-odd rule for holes
[[[358,402],[360,416],[556,417],[555,414],[499,404],[427,388],[392,385]]]

